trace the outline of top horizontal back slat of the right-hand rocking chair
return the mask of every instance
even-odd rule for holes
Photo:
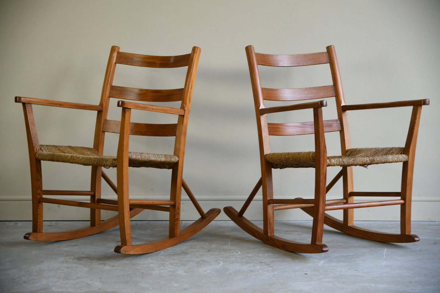
[[[327,52],[296,54],[296,55],[271,55],[255,53],[258,65],[264,66],[304,66],[329,63]]]

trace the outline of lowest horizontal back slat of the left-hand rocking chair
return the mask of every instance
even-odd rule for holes
[[[121,121],[104,120],[103,131],[119,133]],[[130,123],[130,134],[135,136],[176,136],[177,124]]]

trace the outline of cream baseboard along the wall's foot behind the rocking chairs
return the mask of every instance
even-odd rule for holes
[[[225,200],[212,200],[214,196],[199,196],[199,203],[207,211],[211,208],[223,209],[233,206],[240,209],[244,199],[242,197],[224,196]],[[70,197],[70,199],[73,199]],[[361,199],[362,200],[362,199]],[[385,200],[385,199],[384,199]],[[28,196],[3,196],[0,198],[1,221],[28,221],[32,220],[31,201]],[[341,211],[331,211],[330,215],[340,218]],[[103,220],[115,215],[116,212],[103,211]],[[262,220],[261,201],[254,200],[245,214],[249,220]],[[399,220],[400,207],[382,206],[373,208],[355,209],[355,220],[394,221]],[[182,200],[182,220],[196,220],[198,213],[191,201]],[[44,220],[88,220],[89,210],[65,205],[44,204]],[[276,220],[311,220],[300,209],[275,211]],[[440,221],[440,201],[432,198],[414,197],[412,202],[413,221]],[[168,220],[168,213],[147,210],[141,212],[134,220]],[[216,220],[229,220],[222,211]]]

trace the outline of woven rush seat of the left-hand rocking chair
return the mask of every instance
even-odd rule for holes
[[[98,154],[92,147],[40,145],[35,157],[41,161],[72,163],[85,166],[116,167],[116,157]],[[170,154],[128,153],[128,166],[171,169],[179,157]]]

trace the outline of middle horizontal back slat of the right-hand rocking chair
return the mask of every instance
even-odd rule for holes
[[[322,99],[335,96],[334,86],[312,88],[261,88],[263,99],[271,101],[295,101]]]

